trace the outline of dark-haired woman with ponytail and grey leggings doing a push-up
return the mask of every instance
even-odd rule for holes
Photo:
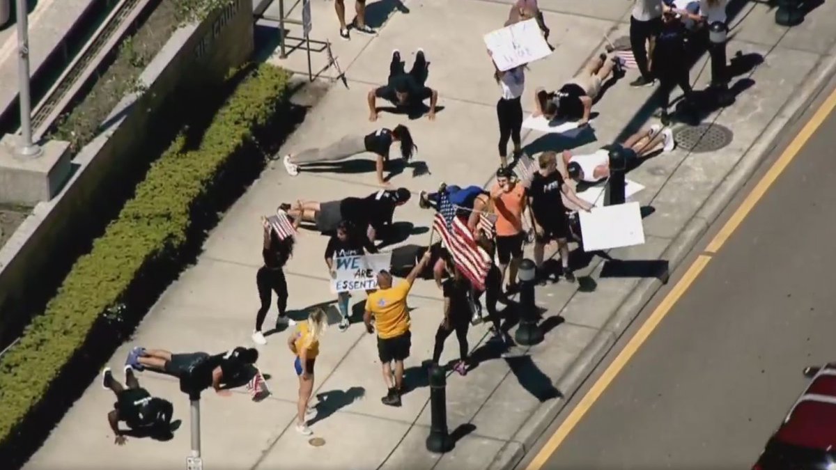
[[[384,128],[364,136],[348,135],[322,149],[308,149],[295,155],[288,154],[283,159],[284,168],[290,176],[296,176],[299,170],[304,169],[304,167],[299,168],[300,165],[330,164],[368,151],[377,156],[375,171],[378,184],[388,187],[390,183],[383,177],[383,170],[385,164],[389,162],[389,149],[395,142],[400,143],[400,156],[408,163],[418,147],[412,140],[410,130],[405,125],[396,125],[393,130]]]

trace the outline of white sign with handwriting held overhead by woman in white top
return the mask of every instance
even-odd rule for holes
[[[493,62],[502,72],[552,54],[536,19],[527,19],[487,33],[484,40]]]

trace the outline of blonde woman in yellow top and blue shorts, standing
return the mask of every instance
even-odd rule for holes
[[[296,359],[293,368],[299,377],[299,400],[296,414],[296,432],[310,436],[314,432],[308,427],[308,421],[316,416],[316,408],[308,406],[314,392],[314,363],[319,355],[319,338],[328,328],[328,319],[322,309],[315,309],[308,319],[299,322],[293,335],[288,337],[288,347]]]

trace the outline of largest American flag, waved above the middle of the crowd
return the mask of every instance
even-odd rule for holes
[[[438,213],[433,228],[441,233],[441,240],[450,250],[456,268],[470,279],[474,288],[484,290],[491,258],[478,247],[466,222],[456,216],[456,207],[450,202],[447,193],[439,193],[438,199]]]

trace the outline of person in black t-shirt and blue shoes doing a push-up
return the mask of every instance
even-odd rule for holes
[[[218,395],[229,396],[231,392],[222,386],[242,381],[257,360],[258,350],[240,346],[217,355],[205,352],[175,354],[168,350],[137,346],[128,353],[125,365],[135,370],[148,369],[173,375],[178,379],[188,375],[195,381],[194,386],[201,390],[212,386]]]

